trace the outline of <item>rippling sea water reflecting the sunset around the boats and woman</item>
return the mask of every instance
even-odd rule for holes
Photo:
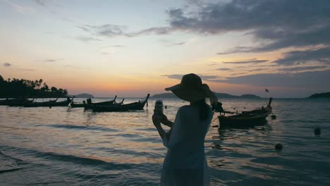
[[[124,113],[0,106],[0,185],[159,185],[166,147],[152,124],[155,101]],[[267,104],[219,101],[228,111]],[[170,120],[187,104],[163,102]],[[276,120],[245,129],[219,130],[214,114],[205,140],[211,185],[330,184],[330,100],[274,99],[272,107]]]

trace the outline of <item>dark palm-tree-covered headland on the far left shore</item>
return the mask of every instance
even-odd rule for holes
[[[66,97],[68,91],[66,89],[58,89],[47,85],[42,79],[40,80],[24,80],[8,79],[0,75],[0,97],[16,98],[16,97]]]

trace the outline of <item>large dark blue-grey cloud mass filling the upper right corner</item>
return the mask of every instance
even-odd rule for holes
[[[248,32],[257,40],[269,41],[254,50],[269,51],[288,46],[329,44],[329,12],[330,1],[327,0],[235,0],[204,4],[193,13],[181,8],[168,13],[174,30],[210,35]]]

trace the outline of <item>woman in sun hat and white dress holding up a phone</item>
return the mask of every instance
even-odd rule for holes
[[[207,161],[204,154],[204,138],[212,120],[212,109],[205,103],[209,97],[211,104],[217,99],[213,92],[195,74],[184,75],[181,83],[171,90],[177,97],[189,101],[181,106],[173,122],[165,115],[154,113],[152,121],[168,148],[161,174],[161,185],[209,185]],[[171,130],[165,132],[161,123]]]

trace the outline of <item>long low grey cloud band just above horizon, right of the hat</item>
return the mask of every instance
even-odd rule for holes
[[[303,73],[262,73],[218,80],[238,85],[274,87],[330,87],[330,70]]]

